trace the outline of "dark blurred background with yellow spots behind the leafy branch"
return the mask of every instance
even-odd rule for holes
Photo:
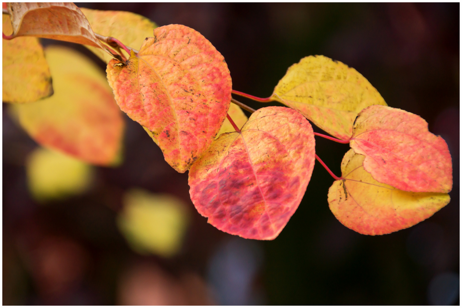
[[[123,163],[92,167],[40,148],[4,103],[4,305],[459,304],[459,3],[77,5],[198,30],[224,55],[233,89],[259,97],[307,55],[354,67],[389,106],[420,115],[446,140],[451,201],[409,229],[363,236],[329,210],[333,179],[316,163],[280,236],[244,240],[207,224],[189,199],[188,174],[127,116]],[[43,44],[74,48],[105,71],[82,46]],[[337,175],[348,148],[316,137],[316,153]],[[79,175],[72,185],[33,183],[66,168]]]

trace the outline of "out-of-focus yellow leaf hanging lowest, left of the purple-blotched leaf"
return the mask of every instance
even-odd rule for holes
[[[186,206],[174,196],[134,188],[124,196],[117,224],[135,251],[170,257],[181,248],[187,214]]]

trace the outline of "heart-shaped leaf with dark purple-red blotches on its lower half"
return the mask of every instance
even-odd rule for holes
[[[303,198],[315,159],[313,129],[285,107],[253,113],[189,169],[189,194],[208,223],[257,240],[279,235]]]

